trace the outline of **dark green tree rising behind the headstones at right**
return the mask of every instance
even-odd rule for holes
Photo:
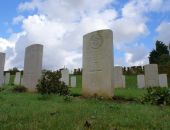
[[[161,41],[156,41],[156,49],[149,55],[150,64],[166,65],[170,61],[168,46]]]

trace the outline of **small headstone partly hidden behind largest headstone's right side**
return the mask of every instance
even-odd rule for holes
[[[115,66],[113,68],[113,87],[123,88],[123,71],[121,66]]]

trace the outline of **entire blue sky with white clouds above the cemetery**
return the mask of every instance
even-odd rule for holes
[[[148,64],[155,41],[170,43],[170,0],[1,0],[5,69],[24,65],[25,48],[44,45],[43,69],[82,67],[83,35],[113,31],[114,65]]]

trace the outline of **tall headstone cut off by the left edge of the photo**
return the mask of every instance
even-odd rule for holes
[[[5,53],[0,52],[0,86],[4,84]]]

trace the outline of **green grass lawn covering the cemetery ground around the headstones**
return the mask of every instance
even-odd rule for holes
[[[11,82],[12,82],[11,78]],[[126,88],[115,89],[115,100],[81,97],[81,76],[75,97],[37,93],[0,92],[0,130],[169,130],[170,106],[140,103],[146,93],[136,78],[126,77]]]

